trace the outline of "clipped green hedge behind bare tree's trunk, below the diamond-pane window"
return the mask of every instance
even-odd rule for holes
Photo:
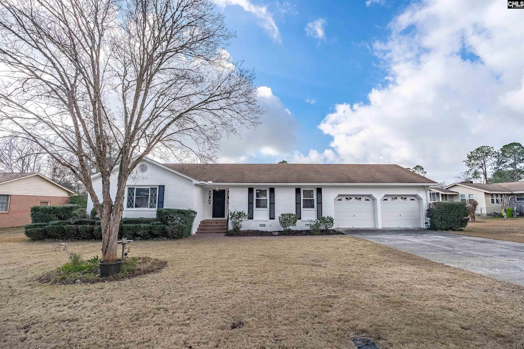
[[[118,238],[130,240],[183,239],[191,235],[196,212],[160,209],[157,218],[123,218]],[[164,224],[163,222],[170,222]],[[31,240],[102,240],[100,220],[76,219],[26,224],[25,234]]]

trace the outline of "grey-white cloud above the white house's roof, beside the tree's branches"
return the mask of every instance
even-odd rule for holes
[[[219,162],[249,162],[260,157],[274,159],[296,149],[299,125],[291,112],[267,86],[258,87],[257,98],[267,114],[260,118],[256,129],[245,129],[240,136],[224,138]]]

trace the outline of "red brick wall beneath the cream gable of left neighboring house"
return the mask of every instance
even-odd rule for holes
[[[11,195],[9,212],[0,212],[0,228],[19,227],[31,223],[30,209],[32,206],[40,205],[40,201],[49,201],[51,206],[64,205],[69,202],[69,197]]]

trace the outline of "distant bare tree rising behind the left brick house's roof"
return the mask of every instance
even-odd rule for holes
[[[0,138],[1,172],[43,173],[46,171],[46,156],[31,140],[9,136]]]

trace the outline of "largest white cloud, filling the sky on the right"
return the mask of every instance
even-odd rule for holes
[[[386,85],[365,103],[336,105],[319,126],[339,160],[421,164],[430,178],[452,181],[479,145],[522,141],[522,15],[498,3],[409,6],[374,44]]]

